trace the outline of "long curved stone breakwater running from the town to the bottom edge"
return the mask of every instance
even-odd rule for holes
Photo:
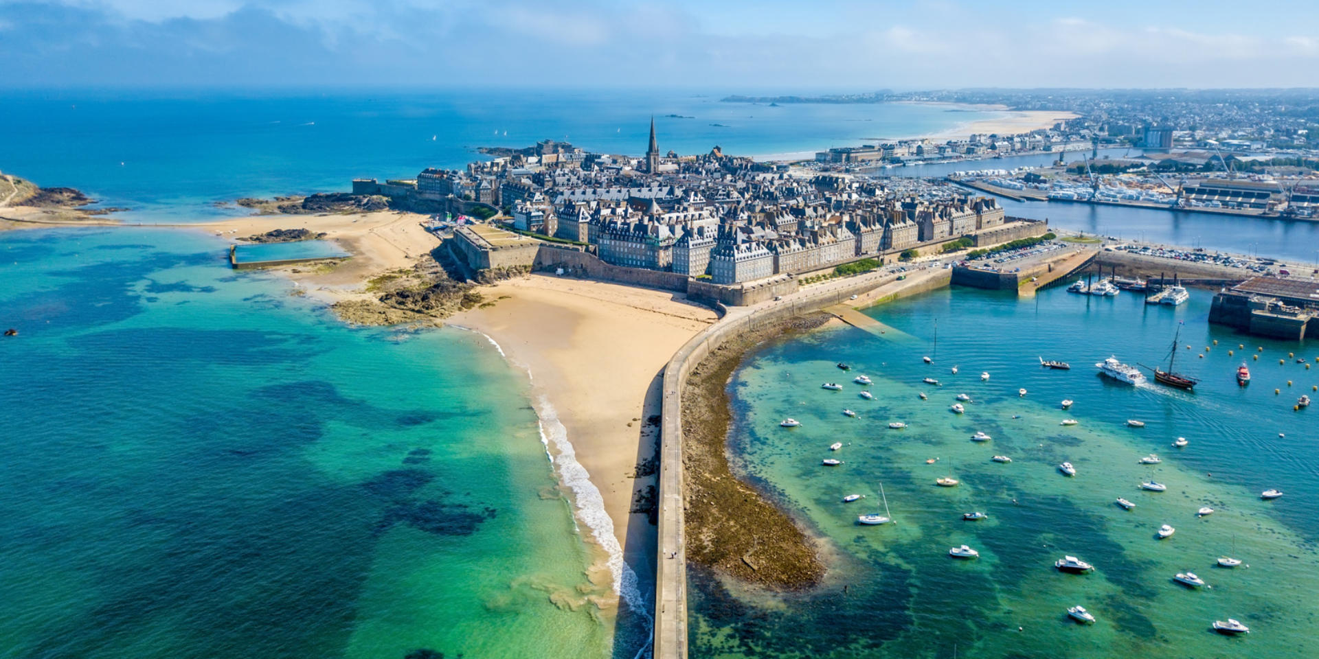
[[[683,435],[682,391],[691,370],[711,352],[731,337],[773,323],[818,311],[826,306],[848,301],[852,295],[873,294],[882,290],[878,301],[926,293],[947,286],[948,270],[922,270],[904,281],[897,275],[872,273],[813,286],[753,307],[727,310],[723,320],[707,327],[683,345],[663,374],[663,401],[661,407],[660,451],[660,542],[656,560],[656,616],[654,658],[682,659],[687,656],[687,547],[686,500],[683,496]]]

